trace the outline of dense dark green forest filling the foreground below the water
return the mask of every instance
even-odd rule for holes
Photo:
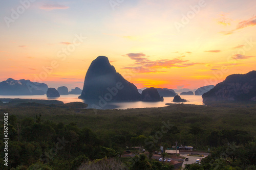
[[[256,106],[253,103],[174,104],[126,110],[84,107],[81,103],[1,104],[1,116],[8,113],[8,167],[93,169],[92,166],[111,164],[117,169],[173,169],[170,164],[150,158],[153,151],[160,151],[160,145],[167,149],[175,141],[200,151],[212,150],[200,165],[193,164],[187,169],[214,169],[216,164],[227,169],[255,167]],[[1,122],[1,136],[3,129]],[[144,147],[149,155],[119,159],[126,147],[135,146]],[[4,150],[2,138],[0,148]],[[233,148],[236,152],[228,152]],[[1,162],[3,157],[1,152]],[[3,163],[0,168],[8,169]]]

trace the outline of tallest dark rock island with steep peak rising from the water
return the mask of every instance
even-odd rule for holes
[[[79,99],[138,101],[141,94],[134,84],[116,72],[108,57],[99,56],[88,68]]]

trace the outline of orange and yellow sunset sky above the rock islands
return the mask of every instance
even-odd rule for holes
[[[106,56],[138,88],[194,89],[256,66],[255,0],[13,0],[0,14],[0,81],[82,88]]]

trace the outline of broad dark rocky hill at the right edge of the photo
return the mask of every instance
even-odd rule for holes
[[[202,95],[208,105],[218,101],[256,101],[256,71],[230,75],[210,91]]]

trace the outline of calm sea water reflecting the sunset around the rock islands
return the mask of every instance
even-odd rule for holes
[[[108,102],[99,103],[99,101],[86,101],[78,99],[79,95],[60,95],[59,98],[47,98],[46,95],[0,95],[0,98],[10,98],[10,99],[42,99],[42,100],[58,100],[63,103],[69,102],[83,102],[89,104],[88,108],[99,108],[99,109],[127,109],[127,108],[148,108],[148,107],[164,107],[165,103],[172,102],[174,97],[165,97],[163,102]],[[182,99],[186,99],[189,102],[184,104],[195,104],[203,105],[201,95],[180,95]]]

